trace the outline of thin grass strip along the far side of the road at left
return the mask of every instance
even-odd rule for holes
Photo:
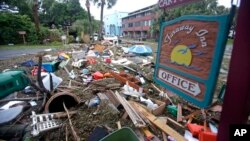
[[[62,44],[48,44],[48,45],[1,45],[0,50],[15,50],[15,49],[40,49],[40,48],[63,48]]]

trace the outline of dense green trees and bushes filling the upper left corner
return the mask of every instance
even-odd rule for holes
[[[42,43],[44,39],[50,39],[51,42],[61,42],[63,31],[66,32],[65,26],[73,25],[72,30],[78,35],[81,31],[87,33],[89,30],[88,14],[81,7],[79,0],[65,0],[58,2],[56,0],[39,1],[39,7],[43,11],[39,12],[41,22],[40,32],[36,33],[33,18],[34,0],[0,0],[10,6],[17,6],[19,14],[0,13],[0,44],[22,43],[22,36],[17,31],[26,31],[26,41],[32,44]],[[98,21],[91,16],[93,31],[98,31]],[[79,22],[81,21],[81,22]],[[82,24],[82,25],[81,25]],[[55,25],[52,30],[52,25]],[[56,28],[56,29],[55,29]]]

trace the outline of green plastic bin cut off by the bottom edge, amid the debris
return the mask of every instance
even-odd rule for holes
[[[136,134],[129,127],[123,127],[107,135],[100,141],[139,141]]]

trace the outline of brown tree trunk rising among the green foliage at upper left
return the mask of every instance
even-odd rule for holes
[[[39,34],[40,32],[40,21],[39,21],[39,16],[38,16],[38,0],[27,0],[28,5],[32,7],[33,11],[33,18],[35,22],[35,27],[36,27],[36,32]]]

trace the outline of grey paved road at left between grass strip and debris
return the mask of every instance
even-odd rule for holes
[[[14,50],[0,50],[0,60],[5,60],[17,56],[36,54],[43,49],[14,49]]]

